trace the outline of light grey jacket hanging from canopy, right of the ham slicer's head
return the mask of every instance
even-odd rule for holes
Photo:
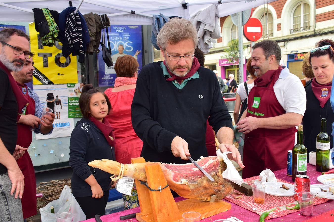
[[[219,4],[213,4],[190,18],[197,29],[198,48],[203,53],[209,52],[212,43],[216,43],[214,39],[221,37],[218,6]]]

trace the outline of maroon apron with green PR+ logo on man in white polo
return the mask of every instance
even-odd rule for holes
[[[273,88],[278,78],[276,73],[269,87],[252,88],[248,94],[247,116],[267,118],[286,113]],[[266,168],[272,171],[287,168],[287,152],[294,146],[296,131],[296,127],[257,128],[245,134],[242,178],[257,176]]]

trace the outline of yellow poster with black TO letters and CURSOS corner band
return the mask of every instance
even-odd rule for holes
[[[35,53],[33,72],[34,85],[77,83],[76,56],[63,57],[61,45],[42,46],[35,30],[35,23],[29,24],[31,52]]]

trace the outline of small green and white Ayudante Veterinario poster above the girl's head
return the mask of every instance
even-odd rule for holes
[[[67,83],[68,118],[82,117],[79,107],[79,98],[82,93],[82,87],[83,83]]]

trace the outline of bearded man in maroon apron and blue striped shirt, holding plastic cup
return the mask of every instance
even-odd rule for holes
[[[29,101],[29,106],[22,115],[21,118],[25,118],[25,123],[17,124],[18,138],[16,145],[21,147],[29,147],[32,141],[33,130],[35,133],[50,134],[52,133],[52,123],[54,120],[54,114],[42,116],[43,108],[39,102],[39,97],[37,94],[30,89],[26,83],[32,81],[32,72],[35,70],[34,62],[32,57],[27,59],[23,63],[23,68],[20,71],[12,71],[11,74],[14,77],[17,86],[21,89],[21,93]],[[20,118],[20,119],[21,119]],[[42,121],[41,121],[42,120]],[[26,124],[30,123],[30,124]],[[36,125],[35,125],[36,124]],[[15,155],[16,154],[16,155]],[[17,152],[14,152],[14,157],[17,159],[17,164],[19,165],[23,175],[24,175],[24,193],[22,195],[21,204],[23,211],[23,218],[28,218],[36,215],[36,179],[34,166],[31,162],[30,155],[28,152],[23,153],[20,156]]]

